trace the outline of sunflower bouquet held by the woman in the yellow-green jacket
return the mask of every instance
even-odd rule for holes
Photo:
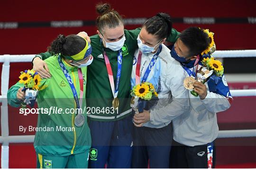
[[[22,91],[26,90],[24,103],[33,107],[37,98],[41,78],[36,71],[25,70],[24,72],[20,72],[19,79],[18,82],[24,84]]]

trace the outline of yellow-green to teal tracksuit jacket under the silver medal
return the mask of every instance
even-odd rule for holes
[[[81,127],[76,127],[73,123],[75,114],[71,114],[69,109],[76,108],[72,90],[66,77],[61,70],[57,56],[45,60],[52,77],[43,79],[39,85],[37,96],[38,108],[45,108],[50,111],[50,107],[62,108],[61,114],[42,114],[39,111],[37,127],[49,127],[50,131],[37,131],[34,141],[34,147],[37,153],[48,156],[66,156],[88,151],[91,147],[91,133],[86,119],[86,71],[82,68],[83,74],[83,103],[81,108],[85,108],[85,123]],[[80,83],[78,77],[78,68],[67,64],[62,60],[74,83],[78,96],[80,95]],[[20,101],[17,100],[17,91],[24,87],[21,83],[16,83],[8,91],[8,103],[13,107],[19,107]],[[68,108],[68,109],[66,109]],[[69,114],[66,114],[66,112]],[[44,111],[46,112],[46,111]],[[29,115],[28,115],[29,116]],[[64,127],[64,128],[63,128]],[[66,128],[67,127],[67,128]],[[52,130],[53,129],[53,130]],[[70,130],[70,131],[69,131]]]

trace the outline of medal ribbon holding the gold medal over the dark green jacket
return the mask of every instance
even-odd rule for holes
[[[105,51],[104,51],[104,59],[105,59],[105,64],[106,64],[108,75],[109,75],[110,86],[111,86],[111,90],[113,93],[113,97],[117,98],[120,77],[121,77],[121,70],[122,70],[122,59],[123,59],[122,50],[120,49],[119,54],[118,54],[118,71],[117,71],[117,79],[116,79],[116,88],[115,88],[115,84],[114,84],[114,78],[113,78],[113,72],[112,72],[111,65],[110,65],[110,60]]]

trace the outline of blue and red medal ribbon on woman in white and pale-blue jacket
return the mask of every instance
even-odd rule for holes
[[[162,51],[162,45],[159,46],[157,53],[155,53],[155,55],[153,56],[153,58],[151,59],[149,65],[147,66],[147,69],[144,73],[144,76],[142,78],[142,81],[140,80],[140,65],[141,65],[141,57],[142,57],[142,53],[139,51],[138,54],[138,61],[137,61],[137,65],[136,65],[136,79],[135,79],[135,83],[140,84],[140,81],[143,83],[146,81],[150,71],[153,69],[155,62],[158,58],[159,53]]]

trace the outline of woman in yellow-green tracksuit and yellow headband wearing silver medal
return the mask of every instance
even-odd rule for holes
[[[38,111],[34,141],[37,168],[87,168],[91,134],[85,89],[87,65],[93,60],[91,44],[81,36],[60,35],[49,52],[56,53],[45,60],[52,77],[40,81],[37,96],[38,108],[44,109]],[[20,106],[25,99],[22,87],[18,82],[9,89],[9,105]],[[60,114],[53,113],[54,107]],[[85,112],[74,113],[76,108]]]

